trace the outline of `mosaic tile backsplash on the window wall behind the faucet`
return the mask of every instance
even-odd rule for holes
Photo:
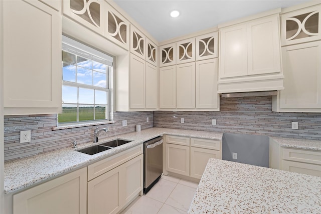
[[[127,120],[127,126],[122,127],[122,120]],[[115,112],[114,121],[116,123],[52,130],[57,126],[56,114],[5,116],[5,161],[71,147],[75,140],[78,144],[92,142],[96,127],[110,129],[107,133],[100,133],[99,140],[135,131],[137,124],[141,129],[151,128],[153,112]],[[20,143],[20,131],[24,130],[31,130],[30,143]]]

